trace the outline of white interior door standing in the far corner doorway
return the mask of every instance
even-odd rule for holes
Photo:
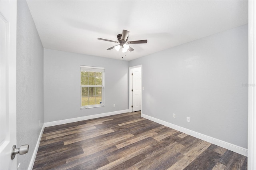
[[[141,110],[141,67],[132,69],[132,111]]]

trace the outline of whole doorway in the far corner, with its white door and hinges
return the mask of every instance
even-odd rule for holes
[[[129,67],[129,112],[142,110],[142,65]]]

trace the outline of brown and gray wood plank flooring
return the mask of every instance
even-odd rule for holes
[[[33,169],[246,170],[247,157],[134,112],[46,127]]]

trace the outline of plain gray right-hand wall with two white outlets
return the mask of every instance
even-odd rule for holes
[[[248,25],[132,60],[129,67],[140,64],[143,114],[247,148]]]

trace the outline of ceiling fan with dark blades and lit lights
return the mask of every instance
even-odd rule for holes
[[[103,41],[108,41],[108,42],[114,42],[114,43],[119,43],[118,45],[114,45],[113,47],[110,47],[108,49],[113,49],[115,48],[116,51],[119,51],[119,49],[122,47],[122,52],[125,53],[127,50],[133,51],[134,49],[130,47],[128,44],[134,44],[134,43],[147,43],[148,40],[137,40],[137,41],[130,41],[128,42],[128,37],[129,37],[129,31],[123,30],[122,34],[118,34],[116,36],[117,41],[112,41],[112,40],[106,40],[103,38],[98,38],[98,40],[103,40]]]

